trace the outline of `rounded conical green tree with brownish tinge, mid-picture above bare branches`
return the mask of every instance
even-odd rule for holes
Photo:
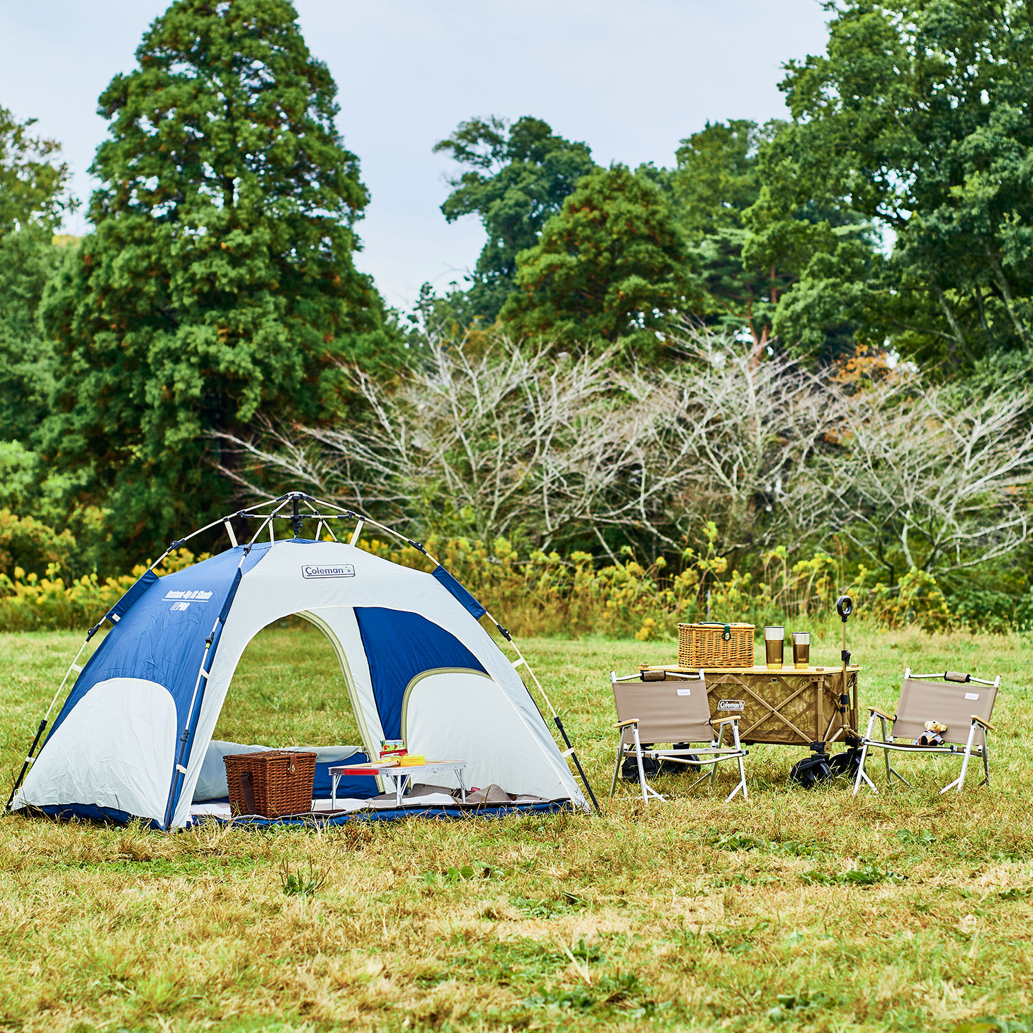
[[[692,256],[649,167],[584,177],[518,258],[518,292],[501,319],[516,333],[570,343],[623,340],[655,357],[669,317],[698,294]]]

